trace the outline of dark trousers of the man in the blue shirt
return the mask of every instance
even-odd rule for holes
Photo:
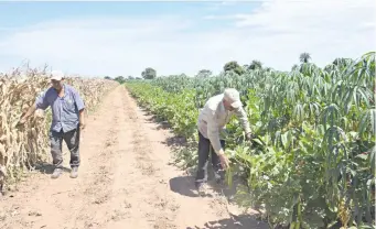
[[[71,167],[79,166],[79,128],[76,128],[68,132],[50,132],[50,141],[51,141],[51,154],[53,164],[55,167],[63,167],[63,140],[65,141],[68,150],[71,151]]]

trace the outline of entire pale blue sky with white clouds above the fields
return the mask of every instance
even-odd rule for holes
[[[214,74],[253,59],[289,70],[376,51],[373,0],[1,1],[0,72],[25,62],[66,74]]]

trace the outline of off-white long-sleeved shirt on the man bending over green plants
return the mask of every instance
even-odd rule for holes
[[[216,153],[219,152],[221,139],[225,134],[226,124],[229,122],[233,115],[236,115],[246,133],[250,132],[247,113],[243,107],[234,109],[233,111],[225,110],[222,102],[224,94],[219,94],[210,98],[204,108],[198,115],[197,128],[204,138],[208,139]]]

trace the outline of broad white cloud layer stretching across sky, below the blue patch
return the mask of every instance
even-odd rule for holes
[[[159,75],[194,75],[202,68],[218,73],[226,62],[253,59],[286,70],[302,52],[324,66],[336,57],[356,58],[375,51],[375,10],[370,0],[265,1],[248,14],[212,12],[204,19],[55,20],[0,33],[0,70],[24,58],[31,65],[49,63],[69,73],[100,76],[139,76],[146,67]],[[211,26],[219,22],[225,25]]]

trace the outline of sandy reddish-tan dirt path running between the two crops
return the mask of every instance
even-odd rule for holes
[[[43,166],[0,199],[0,228],[266,228],[251,217],[235,222],[214,193],[197,197],[193,178],[169,165],[171,133],[149,118],[119,86],[87,120],[78,178],[65,149],[62,177]]]

